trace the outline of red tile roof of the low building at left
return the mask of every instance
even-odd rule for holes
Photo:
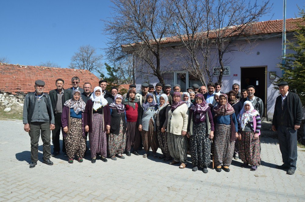
[[[44,92],[49,92],[56,88],[58,78],[65,81],[64,88],[72,87],[71,78],[74,76],[80,78],[80,87],[85,82],[90,82],[92,87],[99,85],[99,78],[88,70],[0,63],[0,90],[12,94],[33,92],[35,81],[41,79],[45,81]]]

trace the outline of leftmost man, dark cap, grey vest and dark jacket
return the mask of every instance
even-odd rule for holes
[[[51,157],[51,131],[55,129],[54,115],[50,96],[43,93],[45,82],[35,81],[35,92],[29,92],[24,99],[23,124],[24,130],[29,133],[31,139],[31,163],[34,168],[38,161],[38,141],[41,134],[43,142],[43,163],[53,165]]]

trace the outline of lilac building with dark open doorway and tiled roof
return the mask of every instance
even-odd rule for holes
[[[287,40],[292,40],[294,31],[297,29],[296,22],[301,22],[301,18],[286,20]],[[282,56],[282,27],[283,20],[270,20],[253,24],[252,29],[254,31],[252,30],[251,35],[243,35],[239,39],[240,43],[246,42],[247,38],[257,39],[251,50],[249,52],[230,52],[223,57],[224,60],[229,62],[225,64],[226,71],[224,72],[221,91],[228,92],[234,83],[240,84],[241,89],[254,85],[256,88],[255,96],[263,100],[265,105],[264,116],[267,118],[272,118],[275,98],[279,95],[278,91],[274,89],[272,81],[276,79],[274,75],[282,75],[281,70],[277,68]],[[163,56],[167,55],[167,57],[164,57],[161,61],[161,67],[167,66],[168,61],[171,60],[169,58],[171,54],[169,53],[173,52],[173,46],[181,45],[179,41],[180,39],[177,37],[162,40],[164,46],[162,54]],[[181,85],[183,92],[193,83],[201,85],[199,80],[191,77],[187,68],[181,68],[179,65],[164,70],[163,79],[166,84]],[[149,81],[151,84],[159,82],[155,76],[150,76],[149,80],[138,78],[136,80],[138,88],[143,81]],[[213,81],[217,81],[217,78],[214,78]]]

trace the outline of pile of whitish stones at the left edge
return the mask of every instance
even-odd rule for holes
[[[9,112],[14,106],[20,108],[23,106],[23,99],[20,96],[14,96],[6,92],[0,93],[0,106],[2,106],[5,112]]]

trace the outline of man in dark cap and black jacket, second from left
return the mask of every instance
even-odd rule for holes
[[[59,136],[60,130],[63,133],[63,126],[61,124],[61,113],[63,112],[63,104],[72,97],[71,91],[65,90],[63,86],[65,81],[59,78],[55,82],[56,89],[49,92],[51,99],[52,110],[54,114],[55,129],[52,130],[52,142],[53,142],[53,153],[52,157],[56,156],[60,152]],[[65,140],[63,139],[63,153],[66,155]]]

